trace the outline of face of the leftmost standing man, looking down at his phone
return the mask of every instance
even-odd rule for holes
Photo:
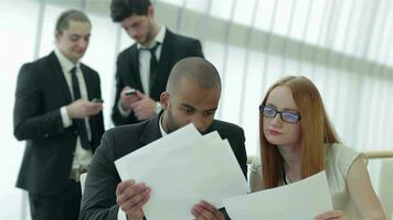
[[[59,51],[71,62],[78,62],[85,54],[89,37],[91,25],[88,22],[68,21],[68,29],[62,33],[56,32]]]

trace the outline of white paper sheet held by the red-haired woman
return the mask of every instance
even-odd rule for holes
[[[307,220],[332,210],[325,170],[278,188],[226,198],[224,205],[232,220]]]

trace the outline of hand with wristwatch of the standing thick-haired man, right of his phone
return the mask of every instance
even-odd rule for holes
[[[131,109],[137,119],[141,121],[152,117],[156,113],[156,101],[140,91],[137,91],[137,97],[139,100],[131,103]]]

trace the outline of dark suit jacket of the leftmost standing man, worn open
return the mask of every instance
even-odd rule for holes
[[[88,99],[100,98],[98,74],[81,64]],[[55,195],[70,180],[76,127],[63,128],[60,108],[72,102],[56,55],[24,64],[19,73],[13,111],[14,135],[25,140],[17,186],[30,193]],[[93,151],[104,133],[103,113],[88,119]]]

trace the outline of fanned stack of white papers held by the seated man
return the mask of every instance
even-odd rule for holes
[[[192,134],[197,130],[188,132],[193,140],[183,141],[184,131],[177,131],[115,162],[121,179],[144,182],[152,189],[144,207],[149,220],[193,219],[191,209],[201,199],[220,208],[223,198],[248,191],[226,140],[216,132],[200,138]]]

